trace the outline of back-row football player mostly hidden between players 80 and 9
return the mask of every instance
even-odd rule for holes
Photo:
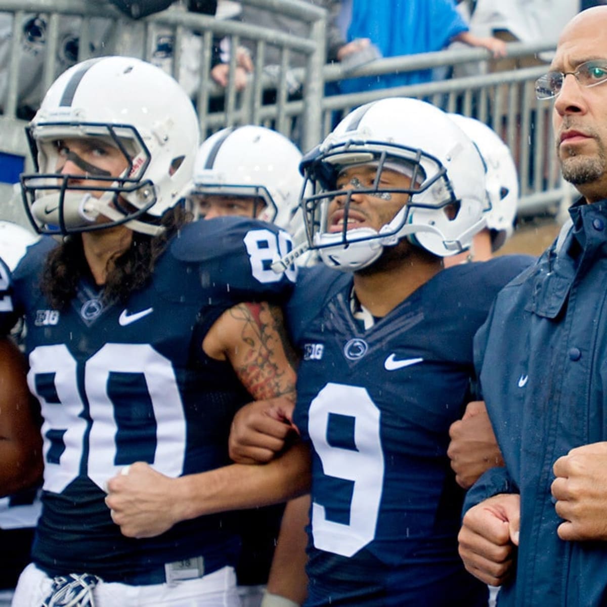
[[[248,124],[222,129],[203,141],[194,163],[192,206],[200,217],[256,217],[305,238],[299,195],[302,154],[279,132]],[[310,256],[297,259],[304,265]],[[240,512],[242,550],[236,568],[243,607],[257,607],[274,554],[281,504]]]

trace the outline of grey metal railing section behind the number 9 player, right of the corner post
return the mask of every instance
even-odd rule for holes
[[[510,43],[509,58],[537,56],[554,50],[554,44]],[[338,64],[326,66],[325,81],[379,76],[389,73],[441,68],[452,71],[463,64],[482,64],[489,59],[483,49],[457,49],[403,57],[378,59],[344,72]],[[506,142],[515,158],[520,178],[519,214],[556,213],[565,191],[558,168],[552,133],[552,103],[535,99],[534,83],[546,66],[527,67],[508,72],[479,73],[423,84],[334,95],[322,100],[322,132],[327,134],[335,115],[383,97],[415,97],[430,101],[447,112],[478,118]]]

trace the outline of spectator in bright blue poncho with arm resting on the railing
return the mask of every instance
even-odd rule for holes
[[[353,0],[351,9],[348,41],[369,38],[384,57],[438,51],[454,40],[484,47],[496,57],[506,53],[503,41],[470,32],[453,0]],[[432,79],[431,69],[416,70],[344,80],[341,90],[353,93]]]

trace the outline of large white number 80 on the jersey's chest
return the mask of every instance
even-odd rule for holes
[[[185,416],[168,359],[148,344],[105,344],[84,367],[83,390],[89,404],[89,423],[78,388],[76,360],[66,345],[45,345],[30,354],[27,381],[40,401],[44,418],[47,491],[62,492],[80,475],[84,457],[87,475],[101,489],[124,464],[137,459],[137,453],[129,459],[128,447],[123,453],[118,444],[118,405],[112,401],[111,385],[112,377],[115,379],[115,374],[120,373],[141,375],[148,389],[156,422],[155,436],[141,435],[138,440],[147,443],[147,452],[154,453],[151,465],[167,476],[183,472]],[[135,409],[137,402],[132,407]],[[124,416],[123,411],[123,419]]]

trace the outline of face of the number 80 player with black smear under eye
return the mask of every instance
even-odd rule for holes
[[[86,178],[86,185],[107,187],[108,177],[119,177],[129,166],[129,161],[115,146],[97,138],[72,138],[55,141],[57,151],[56,172],[70,175],[69,183]],[[95,180],[104,177],[104,180]],[[92,192],[100,197],[103,192]]]

